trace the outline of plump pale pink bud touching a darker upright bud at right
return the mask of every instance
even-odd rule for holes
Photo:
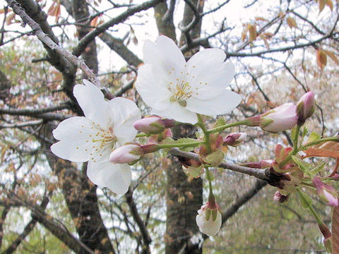
[[[297,124],[298,116],[296,109],[297,106],[292,102],[280,105],[275,109],[270,109],[260,115],[259,126],[264,131],[270,133],[289,130]]]

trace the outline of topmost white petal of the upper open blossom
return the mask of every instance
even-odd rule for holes
[[[186,64],[184,55],[179,47],[177,47],[177,44],[164,35],[157,37],[155,44],[145,41],[143,45],[143,60],[146,64],[152,64],[153,68],[157,71],[168,73],[168,71],[174,68],[176,76],[179,75]],[[165,73],[161,73],[161,75]]]

